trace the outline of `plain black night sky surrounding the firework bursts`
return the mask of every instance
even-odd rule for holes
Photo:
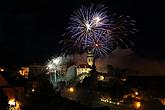
[[[103,4],[112,13],[137,21],[134,52],[165,59],[163,9],[159,0],[40,0],[0,3],[0,64],[45,62],[60,51],[70,15],[81,5]]]

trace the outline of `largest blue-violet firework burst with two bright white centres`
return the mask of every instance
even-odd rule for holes
[[[75,42],[82,42],[97,37],[96,34],[108,26],[107,11],[103,5],[82,6],[71,16],[68,32]]]

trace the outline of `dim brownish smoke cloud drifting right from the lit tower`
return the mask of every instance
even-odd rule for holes
[[[116,68],[137,71],[141,75],[165,75],[165,61],[139,57],[131,49],[116,49],[112,55],[96,60],[96,67],[100,72],[107,72],[108,64]]]

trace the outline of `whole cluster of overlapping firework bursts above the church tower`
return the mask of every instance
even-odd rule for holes
[[[103,5],[82,6],[71,15],[67,28],[69,40],[63,43],[63,50],[67,50],[66,53],[89,50],[98,57],[109,55],[117,46],[134,45],[129,39],[130,34],[137,32],[134,26],[135,20],[129,16],[110,15]]]

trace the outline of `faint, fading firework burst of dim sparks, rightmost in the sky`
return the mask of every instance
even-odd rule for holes
[[[130,16],[118,16],[116,14],[111,15],[109,20],[111,26],[107,30],[108,32],[106,32],[107,37],[113,39],[117,46],[125,45],[128,48],[128,44],[134,45],[130,40],[130,36],[138,32],[138,30],[134,28],[136,21],[131,19]]]

